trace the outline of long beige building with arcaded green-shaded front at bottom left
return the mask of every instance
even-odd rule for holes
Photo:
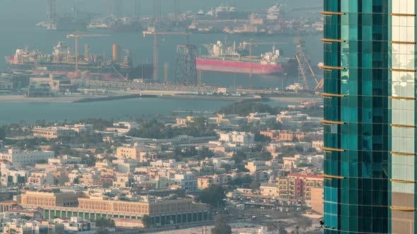
[[[75,200],[76,205],[74,205]],[[74,192],[54,191],[25,192],[21,195],[20,204],[25,208],[42,207],[44,218],[81,217],[91,221],[100,218],[140,220],[142,216],[148,215],[153,226],[204,223],[211,219],[207,205],[194,203],[192,199],[120,201],[107,197],[80,197]]]

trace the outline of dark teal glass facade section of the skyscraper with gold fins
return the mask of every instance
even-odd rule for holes
[[[324,233],[389,233],[388,0],[324,0]]]

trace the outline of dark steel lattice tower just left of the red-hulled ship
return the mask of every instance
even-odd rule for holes
[[[175,83],[197,85],[196,51],[196,46],[192,44],[180,44],[177,46]]]

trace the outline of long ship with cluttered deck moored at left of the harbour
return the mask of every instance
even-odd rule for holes
[[[86,45],[85,53],[78,55],[78,72],[76,73],[76,56],[71,54],[65,42],[59,42],[52,54],[40,51],[17,49],[13,56],[5,57],[8,69],[12,73],[66,75],[69,78],[86,78],[96,80],[133,80],[150,79],[153,66],[141,64],[133,66],[129,50],[124,51],[124,59],[120,59],[120,51],[113,45],[112,59],[102,55],[90,54]]]

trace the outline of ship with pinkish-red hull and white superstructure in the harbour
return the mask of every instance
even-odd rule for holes
[[[209,55],[196,59],[198,70],[225,73],[250,73],[252,70],[252,74],[271,75],[282,73],[292,67],[288,66],[292,59],[281,56],[280,51],[275,47],[273,51],[261,54],[261,56],[252,56],[252,61],[245,43],[227,46],[218,41],[216,44],[206,44],[205,47]]]

